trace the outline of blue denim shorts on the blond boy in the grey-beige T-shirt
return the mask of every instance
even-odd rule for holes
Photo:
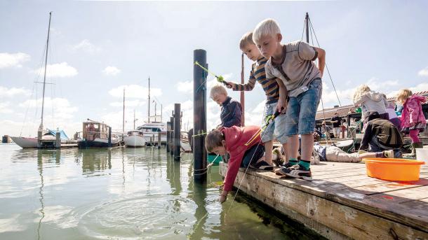
[[[286,113],[286,134],[312,134],[315,129],[315,115],[321,100],[323,85],[320,78],[312,80],[306,92],[290,97]]]

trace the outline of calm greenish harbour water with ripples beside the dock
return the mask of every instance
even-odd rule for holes
[[[195,184],[192,156],[175,162],[164,148],[2,144],[0,239],[314,238],[242,195],[218,203],[221,181],[213,167]]]

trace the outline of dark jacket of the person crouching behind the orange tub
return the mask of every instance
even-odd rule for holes
[[[389,120],[379,118],[379,113],[370,114],[368,118],[366,132],[361,140],[361,149],[368,148],[368,143],[373,137],[377,138],[377,143],[387,148],[401,148],[403,137],[399,129]]]

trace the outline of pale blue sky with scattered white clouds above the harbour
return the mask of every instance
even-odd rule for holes
[[[90,118],[125,129],[147,120],[147,87],[163,119],[180,103],[183,130],[193,122],[193,52],[210,70],[241,79],[239,39],[258,22],[279,22],[283,43],[302,39],[305,13],[326,50],[323,106],[350,104],[368,84],[394,97],[428,90],[428,1],[0,1],[0,135],[36,136],[44,50],[52,11],[44,127],[81,132]],[[311,41],[312,44],[312,41]],[[316,41],[314,45],[317,46]],[[251,62],[246,59],[245,81]],[[215,85],[208,78],[210,87]],[[239,92],[229,91],[239,99]],[[260,125],[265,94],[246,92],[246,124]],[[154,103],[151,104],[154,113]],[[320,106],[321,108],[321,106]],[[207,97],[208,129],[220,107]],[[189,127],[187,127],[189,126]]]

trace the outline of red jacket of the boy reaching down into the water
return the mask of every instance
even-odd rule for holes
[[[260,127],[247,126],[247,127],[223,127],[220,131],[225,134],[226,151],[229,153],[230,158],[227,164],[227,174],[224,182],[223,190],[232,190],[232,185],[235,182],[236,175],[238,174],[239,167],[243,154],[246,150],[257,144],[262,144],[260,134],[248,146],[245,144],[258,133]]]

